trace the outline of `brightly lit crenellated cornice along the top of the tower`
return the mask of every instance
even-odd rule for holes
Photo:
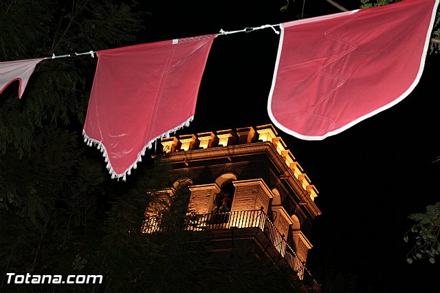
[[[180,140],[166,138],[162,140],[164,151],[168,154],[164,158],[164,162],[184,162],[188,166],[189,162],[199,160],[221,158],[231,160],[234,156],[265,153],[280,171],[280,179],[285,180],[292,190],[296,191],[300,197],[299,204],[305,206],[314,217],[320,215],[320,210],[314,204],[318,190],[311,184],[309,177],[303,173],[303,168],[295,160],[294,155],[286,149],[286,144],[277,135],[278,133],[272,124],[267,124],[256,127],[256,131],[253,127],[245,127],[236,129],[236,131],[232,129],[217,131],[217,135],[206,132],[198,133],[198,137],[196,135],[180,135]],[[252,142],[255,138],[259,140]],[[237,139],[239,144],[234,144]],[[197,149],[199,142],[200,148]],[[157,155],[153,157],[157,157]]]

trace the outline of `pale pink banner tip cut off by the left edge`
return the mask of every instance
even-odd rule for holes
[[[19,80],[19,98],[23,95],[28,80],[43,58],[0,62],[0,94],[14,80]]]

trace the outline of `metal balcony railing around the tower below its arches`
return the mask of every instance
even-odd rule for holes
[[[142,232],[153,233],[168,230],[168,225],[164,224],[163,218],[150,217],[144,221]],[[320,285],[305,267],[305,262],[301,261],[285,240],[284,235],[281,235],[263,210],[240,210],[229,213],[188,215],[184,219],[182,228],[190,231],[259,228],[289,264],[290,268],[296,272],[298,278],[303,281],[307,289],[314,293],[320,292]]]

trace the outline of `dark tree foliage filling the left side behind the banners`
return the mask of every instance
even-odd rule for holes
[[[131,0],[0,3],[1,61],[102,50],[135,41],[143,29],[144,14]],[[145,243],[127,232],[139,230],[146,190],[164,188],[168,177],[156,177],[163,175],[159,167],[145,162],[133,182],[111,182],[99,152],[82,141],[95,63],[90,56],[42,61],[21,100],[17,81],[0,96],[1,292],[57,291],[6,284],[7,272],[101,272],[106,281],[123,282],[115,278],[118,258],[108,256],[127,259]]]

